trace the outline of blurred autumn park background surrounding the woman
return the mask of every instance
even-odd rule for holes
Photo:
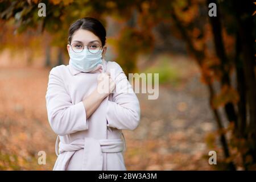
[[[68,64],[68,28],[85,16],[106,27],[106,60],[126,75],[159,73],[159,98],[137,93],[141,124],[123,131],[128,170],[255,170],[255,10],[249,0],[0,0],[0,170],[52,170],[48,75]]]

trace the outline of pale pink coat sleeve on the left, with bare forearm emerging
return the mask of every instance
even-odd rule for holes
[[[46,107],[48,121],[57,135],[88,129],[84,104],[82,101],[72,104],[57,67],[52,68],[49,73]]]

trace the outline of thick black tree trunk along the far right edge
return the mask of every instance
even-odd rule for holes
[[[248,137],[254,146],[250,148],[253,156],[253,163],[256,163],[256,81],[255,81],[255,48],[254,36],[255,22],[253,20],[253,2],[251,1],[232,1],[238,33],[241,39],[243,72],[245,73],[246,99],[249,107],[249,126]]]

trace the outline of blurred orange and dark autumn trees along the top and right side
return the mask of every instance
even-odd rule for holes
[[[46,17],[38,16],[39,2],[0,1],[0,31],[3,32],[0,42],[5,44],[0,49],[33,50],[40,44],[47,60],[47,47],[53,45],[59,47],[58,63],[62,64],[67,30],[74,20],[93,16],[106,25],[106,19],[111,17],[120,26],[118,35],[108,41],[117,52],[117,62],[130,73],[137,71],[139,55],[158,54],[155,27],[160,23],[168,25],[166,35],[185,43],[188,55],[200,69],[202,83],[207,86],[218,131],[210,133],[206,142],[214,148],[214,142],[220,141],[224,154],[221,169],[236,170],[237,166],[256,169],[256,6],[253,2],[51,0],[42,1],[46,3]],[[217,5],[217,16],[208,15],[211,2]],[[20,37],[17,39],[13,32]],[[220,110],[224,110],[224,118]]]

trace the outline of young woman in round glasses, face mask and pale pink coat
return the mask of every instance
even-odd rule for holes
[[[58,135],[53,170],[126,170],[122,130],[137,128],[141,110],[122,68],[104,59],[105,41],[97,19],[77,20],[69,27],[69,64],[49,72],[47,114]]]

